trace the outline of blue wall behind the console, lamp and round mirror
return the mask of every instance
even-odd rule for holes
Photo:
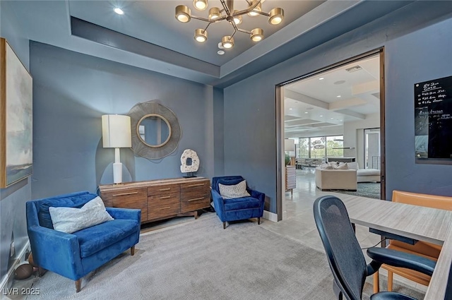
[[[102,148],[102,114],[127,114],[138,102],[158,100],[177,115],[182,139],[161,160],[121,149],[123,181],[180,177],[186,148],[201,160],[198,176],[214,173],[213,88],[58,47],[30,43],[34,80],[32,198],[96,191],[112,184],[114,150]]]

